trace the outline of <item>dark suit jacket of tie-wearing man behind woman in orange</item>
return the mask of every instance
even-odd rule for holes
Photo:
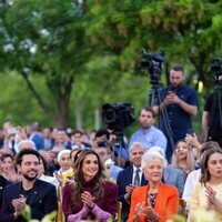
[[[130,212],[130,203],[128,203],[124,199],[125,186],[132,184],[132,175],[133,175],[133,167],[130,165],[129,168],[122,170],[118,174],[118,201],[122,202],[122,221],[127,221],[129,212]],[[141,185],[145,185],[148,181],[142,175]]]

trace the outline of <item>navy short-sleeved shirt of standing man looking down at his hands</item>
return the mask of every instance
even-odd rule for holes
[[[163,100],[170,90],[171,90],[170,85],[162,89],[161,95]],[[194,89],[191,89],[182,84],[176,91],[174,91],[174,93],[185,103],[199,107],[198,93]],[[159,105],[160,101],[157,101],[155,104]],[[168,112],[168,119],[174,141],[184,139],[185,134],[192,131],[191,115],[176,103],[169,104],[165,107],[165,109]],[[163,124],[162,115],[160,119],[160,129],[167,135],[167,130]]]

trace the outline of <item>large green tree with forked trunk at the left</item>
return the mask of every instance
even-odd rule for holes
[[[68,125],[72,84],[89,53],[83,6],[71,0],[6,2],[0,4],[1,70],[17,70],[43,111],[58,125]],[[36,88],[33,74],[44,77],[52,102]]]

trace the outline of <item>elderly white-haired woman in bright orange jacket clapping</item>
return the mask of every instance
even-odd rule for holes
[[[178,213],[176,188],[161,182],[165,165],[167,160],[159,152],[143,154],[141,167],[149,183],[133,190],[128,222],[164,222]]]

